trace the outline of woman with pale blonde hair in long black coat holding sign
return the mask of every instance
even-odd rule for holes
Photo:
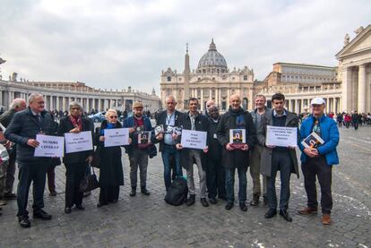
[[[108,109],[106,120],[100,126],[99,132],[99,155],[100,155],[100,172],[99,172],[99,202],[97,207],[107,205],[108,202],[116,203],[120,194],[120,185],[124,185],[123,164],[121,161],[121,148],[104,147],[104,131],[113,128],[122,128],[117,121],[117,112],[114,109]]]

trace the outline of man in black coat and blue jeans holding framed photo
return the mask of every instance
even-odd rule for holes
[[[229,111],[221,116],[218,124],[217,135],[223,146],[222,164],[226,169],[227,205],[226,210],[231,210],[235,201],[235,171],[238,172],[238,201],[239,208],[246,211],[246,171],[248,167],[249,150],[255,145],[255,127],[250,113],[241,107],[241,98],[235,94],[229,98]],[[246,142],[236,146],[229,140],[232,129],[243,129],[246,133]]]

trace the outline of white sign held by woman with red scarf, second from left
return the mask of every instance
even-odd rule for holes
[[[65,153],[92,150],[91,132],[65,133]]]

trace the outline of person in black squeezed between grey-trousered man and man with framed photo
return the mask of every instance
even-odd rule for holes
[[[216,133],[220,122],[219,109],[215,105],[211,105],[207,113],[210,116],[208,118],[209,130],[207,131],[209,150],[207,152],[206,184],[209,192],[209,201],[211,204],[216,204],[217,195],[220,199],[227,200],[226,172],[221,165],[222,146],[218,141]]]

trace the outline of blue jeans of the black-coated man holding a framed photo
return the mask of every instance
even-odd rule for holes
[[[236,169],[226,169],[226,190],[228,201],[235,201],[235,171]],[[240,203],[246,201],[246,168],[237,167],[238,172],[238,201]]]

